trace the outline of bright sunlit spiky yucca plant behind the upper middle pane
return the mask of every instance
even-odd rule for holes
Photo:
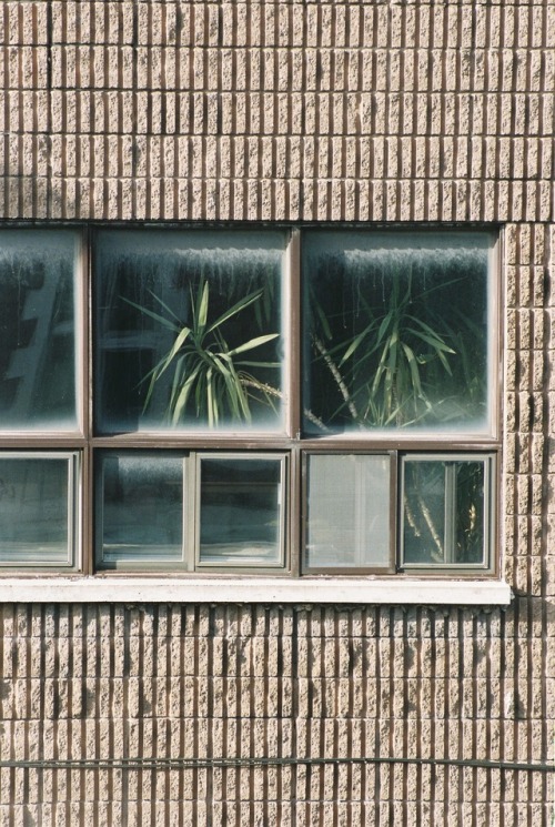
[[[269,369],[279,369],[278,362],[244,359],[279,337],[266,333],[230,346],[225,329],[236,321],[248,307],[261,302],[264,290],[242,296],[215,320],[210,316],[210,285],[201,279],[196,291],[190,286],[190,320],[184,322],[159,296],[151,292],[160,313],[129,299],[124,301],[174,335],[170,350],[144,376],[149,389],[144,402],[147,410],[161,384],[170,373],[170,391],[165,417],[170,425],[178,425],[185,416],[194,415],[215,427],[223,418],[249,423],[252,403],[274,407],[281,392],[261,379]]]

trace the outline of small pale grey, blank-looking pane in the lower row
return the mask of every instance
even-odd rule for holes
[[[310,457],[305,565],[390,565],[387,456]]]

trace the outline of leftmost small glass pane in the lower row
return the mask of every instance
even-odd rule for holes
[[[68,457],[0,458],[0,564],[71,565]]]

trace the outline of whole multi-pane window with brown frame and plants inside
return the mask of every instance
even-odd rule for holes
[[[0,565],[495,571],[495,239],[0,231]]]

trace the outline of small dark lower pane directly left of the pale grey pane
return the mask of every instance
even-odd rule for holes
[[[201,564],[283,565],[283,462],[202,458]]]

